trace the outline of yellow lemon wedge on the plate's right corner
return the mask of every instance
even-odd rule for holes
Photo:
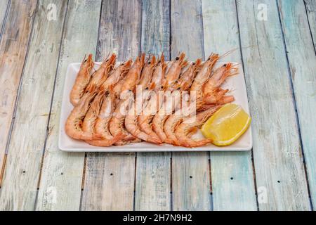
[[[248,129],[251,117],[239,106],[227,104],[202,126],[202,134],[216,146],[228,146]]]

